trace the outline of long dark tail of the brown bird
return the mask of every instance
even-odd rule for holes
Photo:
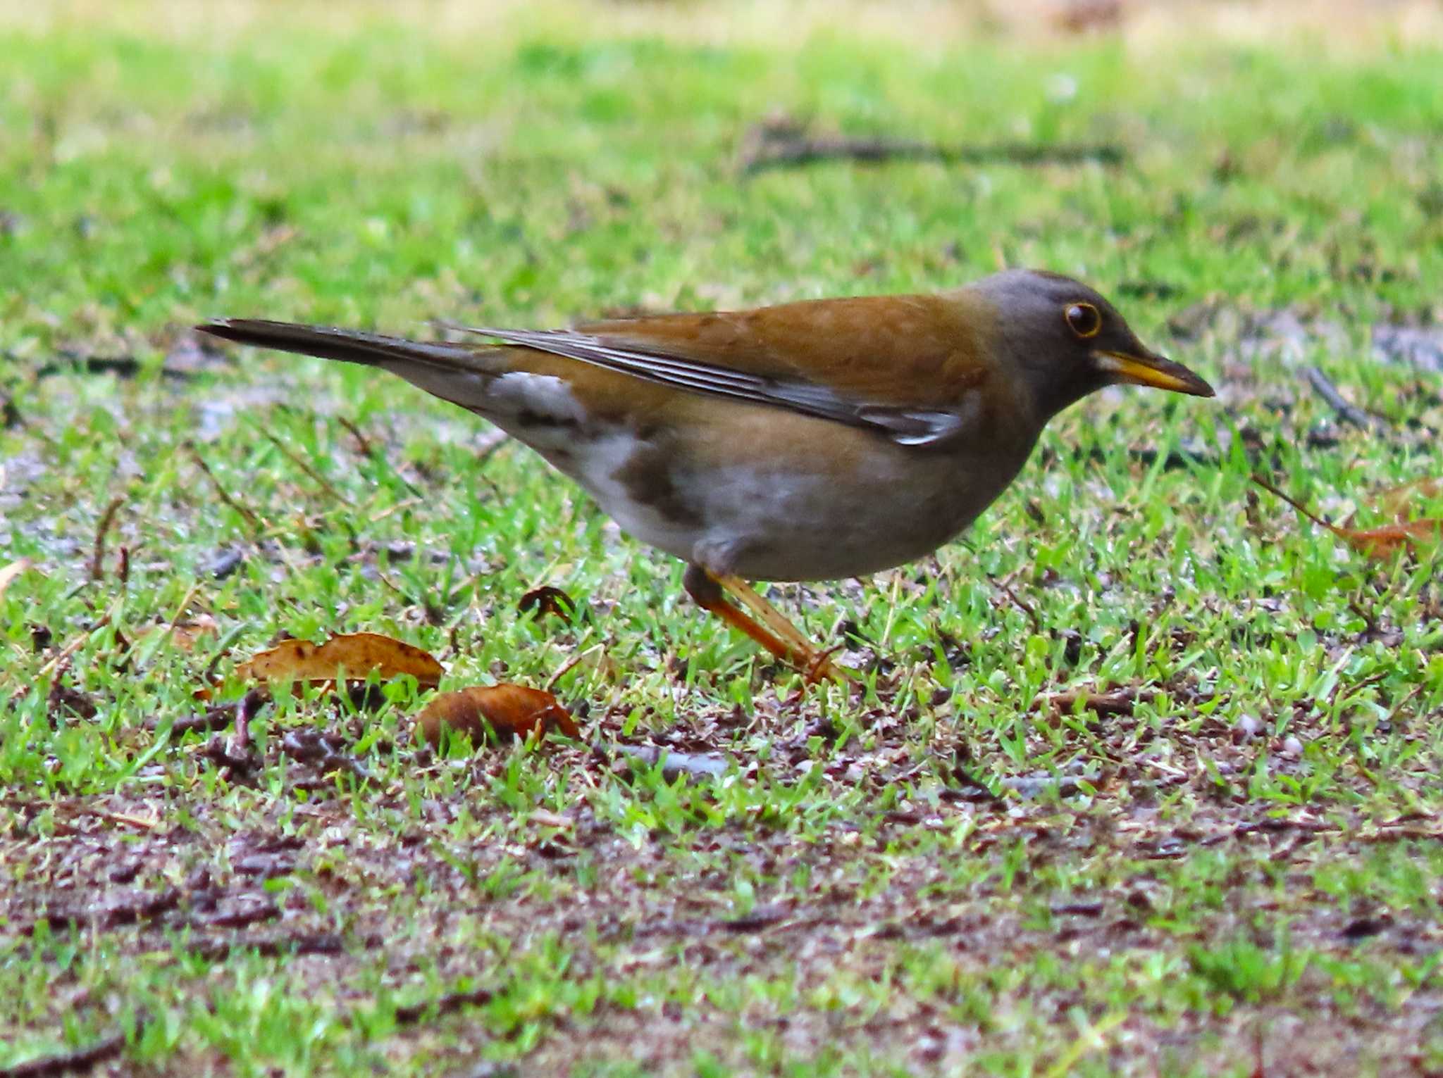
[[[196,326],[212,337],[253,344],[261,349],[296,352],[302,356],[339,359],[346,363],[365,363],[397,370],[405,363],[424,363],[447,370],[472,370],[496,373],[495,357],[486,362],[485,352],[475,346],[449,344],[446,342],[405,340],[380,333],[362,333],[332,326],[300,326],[290,321],[266,321],[263,318],[214,318]]]

